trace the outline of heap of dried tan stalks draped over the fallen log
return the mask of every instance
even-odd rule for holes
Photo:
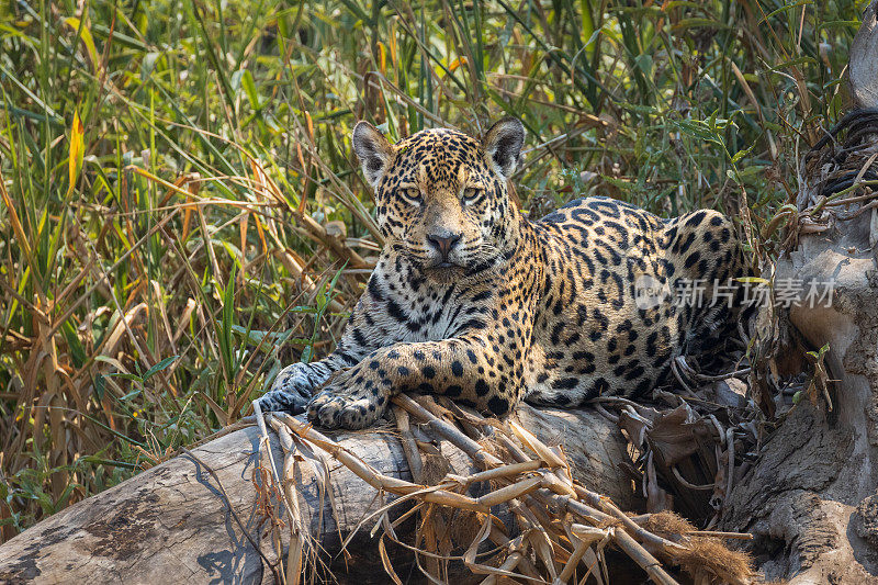
[[[563,451],[547,446],[516,423],[499,424],[447,409],[430,398],[415,401],[401,395],[394,398],[394,404],[409,462],[420,461],[420,453],[413,450],[413,446],[420,445],[415,440],[414,420],[417,420],[420,425],[417,434],[432,434],[450,442],[470,455],[482,471],[468,476],[446,474],[436,485],[390,477],[311,425],[289,415],[271,415],[269,424],[278,431],[285,453],[279,493],[285,499],[295,537],[288,554],[288,582],[296,582],[296,574],[302,573],[308,538],[299,519],[291,473],[299,441],[308,450],[325,451],[379,494],[398,496],[360,522],[362,526],[378,520],[372,533],[380,535],[378,552],[395,583],[402,581],[390,560],[385,540],[413,551],[417,567],[437,583],[447,582],[450,563],[461,561],[471,572],[487,575],[483,583],[514,578],[560,584],[573,578],[584,581],[589,574],[604,581],[608,575],[603,561],[607,545],[620,550],[649,578],[662,585],[677,583],[673,576],[676,570],[697,580],[735,584],[751,581],[750,560],[721,541],[742,535],[699,532],[669,513],[631,518],[609,498],[576,483]],[[493,430],[489,438],[481,436],[479,429],[483,428]],[[470,493],[475,486],[487,486],[487,492],[473,496]],[[406,502],[413,507],[391,521],[391,508]],[[412,515],[419,516],[415,542],[401,542],[394,527]],[[488,548],[492,542],[494,548]],[[455,549],[465,553],[454,555]]]

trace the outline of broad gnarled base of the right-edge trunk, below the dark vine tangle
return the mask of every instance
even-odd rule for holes
[[[767,578],[789,583],[870,583],[876,548],[856,531],[857,506],[878,490],[878,303],[870,282],[868,215],[842,241],[806,236],[777,279],[834,282],[832,304],[792,307],[808,345],[829,345],[833,409],[803,400],[766,442],[754,470],[732,493],[725,529],[752,532]],[[733,527],[733,528],[732,528]]]

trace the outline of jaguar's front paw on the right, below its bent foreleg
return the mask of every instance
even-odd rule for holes
[[[387,406],[387,396],[372,390],[357,391],[351,387],[324,390],[308,404],[308,420],[334,429],[361,429],[378,420]]]

